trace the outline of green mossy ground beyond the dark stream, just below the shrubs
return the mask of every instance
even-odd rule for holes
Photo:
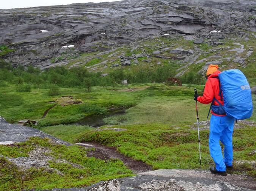
[[[6,85],[0,89],[0,115],[8,122],[15,123],[22,119],[39,121],[41,126],[76,122],[93,114],[81,111],[85,103],[96,104],[105,108],[119,108],[136,105],[143,94],[132,92],[119,92],[112,89],[95,87],[93,92],[87,93],[85,89],[61,88],[58,96],[49,96],[47,89],[32,89],[31,92],[16,92],[15,86]],[[44,119],[44,112],[55,105],[51,103],[64,95],[72,95],[74,99],[82,100],[82,104],[61,106],[57,104],[50,109]]]

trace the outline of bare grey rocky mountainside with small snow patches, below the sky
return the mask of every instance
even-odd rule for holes
[[[169,39],[182,35],[185,40],[195,40],[195,43],[206,39],[214,45],[220,45],[220,40],[231,35],[253,35],[255,39],[255,12],[253,0],[124,0],[2,9],[0,45],[7,46],[9,51],[2,51],[1,58],[14,66],[47,68],[72,66],[76,62],[70,61],[83,56],[82,52],[110,51],[130,43],[136,46],[140,40],[159,35]],[[221,32],[210,33],[214,30]],[[90,60],[90,57],[82,59],[82,64],[86,65]]]

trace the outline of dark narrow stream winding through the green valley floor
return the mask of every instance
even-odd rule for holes
[[[109,111],[107,114],[101,114],[101,115],[94,115],[94,116],[87,116],[82,120],[79,120],[75,123],[75,125],[88,125],[91,127],[100,127],[102,125],[107,125],[103,119],[111,116],[119,116],[119,115],[124,115],[126,112],[127,108],[120,108],[120,109],[115,109],[112,111]]]

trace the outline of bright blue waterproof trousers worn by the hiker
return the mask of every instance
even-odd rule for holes
[[[232,165],[232,133],[234,120],[233,117],[228,116],[212,115],[210,118],[210,156],[214,159],[217,171],[226,171],[226,165]],[[221,152],[220,141],[224,145],[224,159]]]

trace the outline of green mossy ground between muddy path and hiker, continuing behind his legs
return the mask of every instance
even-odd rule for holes
[[[202,165],[198,162],[198,135],[196,130],[186,125],[175,126],[163,124],[119,125],[113,128],[125,128],[126,131],[86,131],[79,141],[96,141],[104,145],[116,146],[118,151],[136,160],[142,160],[154,169],[189,168],[208,169],[213,161],[209,154],[209,130],[200,131]],[[233,135],[234,153],[236,149],[256,149],[256,127],[235,129]],[[251,133],[249,133],[251,132]],[[242,141],[241,138],[245,141]],[[235,160],[245,157],[244,153],[235,155]],[[255,160],[255,156],[246,156]]]

